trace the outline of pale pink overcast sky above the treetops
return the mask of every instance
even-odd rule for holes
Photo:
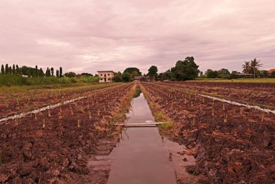
[[[275,68],[274,0],[1,0],[0,64],[64,72]]]

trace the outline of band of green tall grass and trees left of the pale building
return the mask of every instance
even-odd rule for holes
[[[73,74],[72,74],[73,73]],[[1,65],[0,86],[3,85],[41,85],[54,83],[98,83],[99,77],[92,74],[83,73],[76,75],[74,72],[68,72],[69,76],[64,77],[62,67],[56,70],[54,75],[54,68],[47,68],[44,73],[42,68],[35,68],[19,65],[9,66],[8,64]],[[71,75],[70,75],[71,74]]]

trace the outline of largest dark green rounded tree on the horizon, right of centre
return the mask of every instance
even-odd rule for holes
[[[196,79],[199,74],[199,66],[196,65],[194,57],[186,57],[184,61],[177,61],[175,67],[171,68],[173,77],[178,81]]]

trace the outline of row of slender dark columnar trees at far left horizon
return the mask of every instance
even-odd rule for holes
[[[23,65],[21,68],[19,65],[12,65],[9,66],[8,64],[1,65],[1,74],[18,74],[18,75],[25,75],[28,77],[44,77],[44,76],[54,76],[54,68],[47,68],[46,72],[43,72],[42,68],[38,68],[36,65],[35,68],[28,67]],[[59,68],[59,70],[56,70],[56,77],[62,77],[63,76],[63,69],[62,67]]]

